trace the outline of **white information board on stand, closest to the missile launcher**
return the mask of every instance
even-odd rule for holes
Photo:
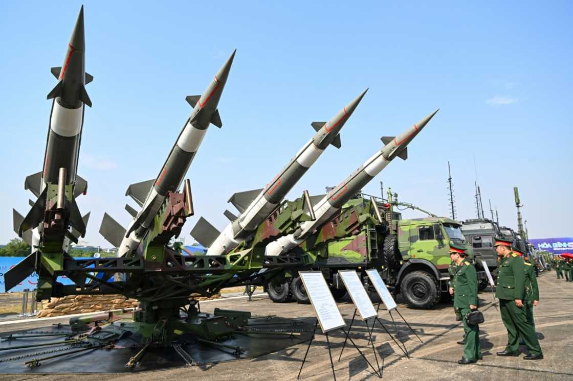
[[[300,279],[303,280],[304,287],[315,309],[316,317],[319,319],[320,328],[323,332],[346,327],[344,319],[340,314],[336,301],[328,288],[323,273],[320,271],[299,271]]]

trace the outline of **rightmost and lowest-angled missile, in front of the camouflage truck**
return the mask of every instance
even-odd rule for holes
[[[427,122],[430,121],[438,110],[435,110],[429,116],[423,118],[397,137],[383,136],[383,148],[376,151],[364,164],[352,172],[346,180],[328,192],[323,199],[315,204],[313,207],[315,219],[312,221],[304,221],[294,233],[282,236],[266,245],[265,255],[278,256],[291,251],[291,249],[303,243],[316,229],[320,228],[324,223],[327,223],[334,213],[342,208],[342,205],[346,204],[356,192],[368,184],[390,161],[394,160],[397,156],[406,160],[408,157],[408,144],[410,144],[417,134],[426,126]]]

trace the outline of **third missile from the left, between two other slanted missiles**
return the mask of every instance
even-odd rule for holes
[[[315,135],[296,153],[295,157],[268,183],[265,188],[236,193],[229,200],[241,212],[239,217],[226,211],[231,222],[222,232],[218,232],[205,219],[201,218],[191,231],[199,243],[209,247],[207,255],[229,253],[248,239],[258,225],[276,209],[286,193],[300,180],[315,163],[329,144],[340,148],[340,130],[350,118],[368,89],[352,100],[328,122],[312,122]],[[211,239],[209,238],[211,237]],[[214,240],[212,239],[213,237]]]

